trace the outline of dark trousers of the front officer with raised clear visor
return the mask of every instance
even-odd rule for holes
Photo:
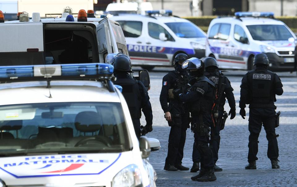
[[[199,122],[198,116],[192,116],[192,122]],[[210,114],[203,115],[203,123],[211,127],[212,118]],[[194,133],[194,145],[193,145],[193,162],[200,162],[201,168],[213,168],[213,153],[208,146],[209,136],[200,136],[198,133]]]

